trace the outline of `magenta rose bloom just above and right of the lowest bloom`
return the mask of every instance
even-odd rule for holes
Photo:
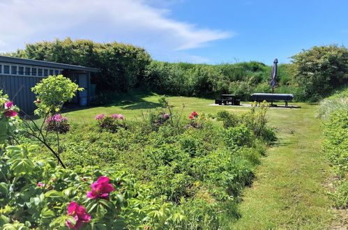
[[[91,185],[92,190],[87,192],[87,197],[91,199],[109,199],[109,193],[115,190],[112,184],[109,184],[109,181],[108,177],[100,176],[97,182]]]

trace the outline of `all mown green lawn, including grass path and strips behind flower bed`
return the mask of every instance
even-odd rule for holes
[[[213,100],[201,98],[170,97],[169,102],[177,109],[184,103],[186,114],[192,111],[216,114],[223,109],[233,112],[249,109],[211,106]],[[290,105],[301,108],[269,109],[268,118],[277,130],[279,141],[268,148],[256,171],[255,182],[244,192],[240,205],[241,218],[231,223],[230,229],[328,229],[337,218],[325,194],[328,178],[333,174],[321,153],[321,129],[320,121],[315,118],[316,106],[303,103]],[[67,116],[77,123],[91,122],[97,114],[121,113],[133,119],[142,110],[158,106],[158,95],[137,94],[116,99],[111,105],[70,111]]]

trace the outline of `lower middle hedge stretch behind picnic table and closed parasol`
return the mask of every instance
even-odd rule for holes
[[[296,93],[289,89],[290,65],[279,66],[280,87],[276,93]],[[145,80],[157,93],[215,98],[221,93],[241,95],[249,100],[251,93],[271,93],[269,76],[271,66],[249,63],[204,65],[151,61]],[[295,92],[294,92],[295,91]]]

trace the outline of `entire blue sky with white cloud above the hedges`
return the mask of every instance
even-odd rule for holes
[[[0,0],[0,52],[54,38],[117,41],[158,61],[268,65],[348,43],[347,0]]]

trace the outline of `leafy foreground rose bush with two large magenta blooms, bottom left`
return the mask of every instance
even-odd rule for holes
[[[133,178],[121,171],[62,169],[52,160],[31,160],[35,148],[8,146],[1,154],[0,224],[5,229],[133,229],[185,221],[172,204],[144,197]]]

